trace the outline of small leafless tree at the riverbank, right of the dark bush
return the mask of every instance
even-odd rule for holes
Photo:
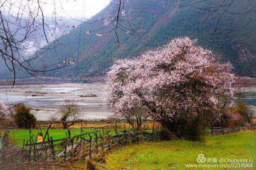
[[[74,125],[76,120],[80,117],[80,108],[78,104],[72,99],[66,99],[65,103],[59,107],[61,114],[61,123],[63,128],[69,128]]]

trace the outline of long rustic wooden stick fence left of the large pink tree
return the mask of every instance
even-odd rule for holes
[[[50,126],[49,126],[50,128]],[[48,128],[48,129],[49,129]],[[120,145],[130,145],[143,141],[159,141],[160,128],[154,125],[152,129],[141,128],[140,130],[124,128],[114,132],[108,128],[95,128],[93,132],[84,132],[81,128],[80,135],[53,139],[46,131],[45,140],[35,143],[38,135],[30,135],[30,139],[23,140],[22,147],[5,148],[2,152],[2,163],[19,162],[44,162],[48,160],[80,162],[104,154],[106,151]],[[31,134],[31,131],[30,131]],[[1,157],[1,155],[0,155]],[[1,161],[0,161],[1,162]]]

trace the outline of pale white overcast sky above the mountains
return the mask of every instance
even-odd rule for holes
[[[106,7],[109,2],[110,0],[39,0],[45,17],[52,18],[55,7],[57,17],[71,17],[78,20],[82,16],[84,18],[94,16]],[[17,13],[28,15],[30,11],[36,14],[38,11],[37,0],[0,0],[0,6],[4,13],[12,14],[13,16],[16,16]],[[21,8],[19,9],[19,7]]]

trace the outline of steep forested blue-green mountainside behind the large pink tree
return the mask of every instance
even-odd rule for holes
[[[256,77],[256,21],[250,19],[256,16],[256,12],[246,13],[246,15],[237,14],[250,8],[256,9],[256,1],[235,0],[228,8],[233,13],[223,13],[225,10],[223,8],[210,17],[207,17],[208,11],[186,6],[195,1],[126,0],[125,16],[122,17],[134,18],[141,12],[131,22],[132,27],[139,27],[137,29],[139,36],[126,34],[125,30],[117,29],[121,44],[118,47],[117,37],[113,31],[102,34],[102,36],[96,36],[96,32],[86,33],[102,27],[104,23],[82,24],[60,38],[61,44],[54,49],[39,51],[42,53],[40,60],[44,60],[50,68],[56,67],[62,58],[70,59],[73,55],[74,58],[78,58],[74,64],[58,69],[49,76],[74,78],[77,63],[79,79],[101,76],[116,58],[131,58],[147,49],[161,46],[177,36],[189,36],[192,39],[197,38],[199,45],[221,54],[223,62],[230,61],[234,65],[236,74]],[[118,2],[117,0],[111,1],[105,9],[90,20],[106,17],[116,9]],[[226,3],[228,2],[230,1],[227,0]],[[182,7],[184,5],[186,7]],[[201,8],[207,5],[209,5],[207,2],[199,4]],[[128,27],[128,23],[123,26]],[[106,27],[99,32],[102,33],[109,29],[110,27]],[[54,47],[54,44],[51,43],[49,47]],[[37,61],[31,64],[38,68],[41,67],[37,65]],[[4,67],[1,67],[2,72]],[[1,74],[0,78],[11,79],[10,75],[11,72],[6,71],[6,74]],[[19,74],[19,76],[22,78],[24,74]]]

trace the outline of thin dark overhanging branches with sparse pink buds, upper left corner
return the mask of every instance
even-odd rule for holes
[[[35,52],[32,56],[25,54],[27,51],[33,52],[42,48],[39,38],[44,38],[47,43],[54,41],[55,44],[58,41],[54,34],[58,28],[58,25],[54,24],[57,18],[53,16],[52,21],[46,22],[41,8],[43,3],[39,0],[0,2],[0,54],[7,68],[13,72],[13,85],[18,69],[37,77],[38,74],[45,74],[69,64],[65,58],[65,63],[59,62],[55,68],[48,68],[40,59],[41,53]],[[42,62],[42,68],[35,68],[31,64],[36,58]]]

